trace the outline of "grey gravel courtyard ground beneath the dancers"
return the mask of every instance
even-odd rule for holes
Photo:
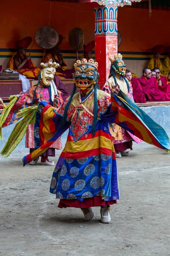
[[[89,222],[80,209],[59,209],[54,167],[23,168],[22,157],[0,158],[0,256],[170,256],[170,154],[141,143],[117,159],[110,224],[99,222],[99,207]]]

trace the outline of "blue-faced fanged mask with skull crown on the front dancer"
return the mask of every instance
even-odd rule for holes
[[[89,90],[98,82],[99,73],[97,73],[98,63],[93,59],[87,61],[85,58],[82,61],[77,60],[74,64],[75,73],[73,81],[80,90]]]

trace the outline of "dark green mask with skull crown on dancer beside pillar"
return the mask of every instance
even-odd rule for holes
[[[126,72],[126,65],[122,58],[122,55],[118,53],[114,55],[114,58],[110,57],[109,59],[111,61],[111,67],[113,67],[114,72],[124,76]]]

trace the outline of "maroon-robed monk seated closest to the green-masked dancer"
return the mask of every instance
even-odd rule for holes
[[[144,96],[144,92],[142,90],[141,84],[139,83],[136,77],[132,77],[130,70],[126,70],[125,74],[127,80],[132,84],[133,88],[133,99],[135,102],[145,103],[146,98]]]

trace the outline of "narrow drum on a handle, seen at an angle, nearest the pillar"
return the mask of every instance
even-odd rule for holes
[[[82,48],[84,44],[84,35],[82,29],[74,28],[71,29],[68,37],[70,47],[76,50],[76,57],[78,59],[78,50]]]

